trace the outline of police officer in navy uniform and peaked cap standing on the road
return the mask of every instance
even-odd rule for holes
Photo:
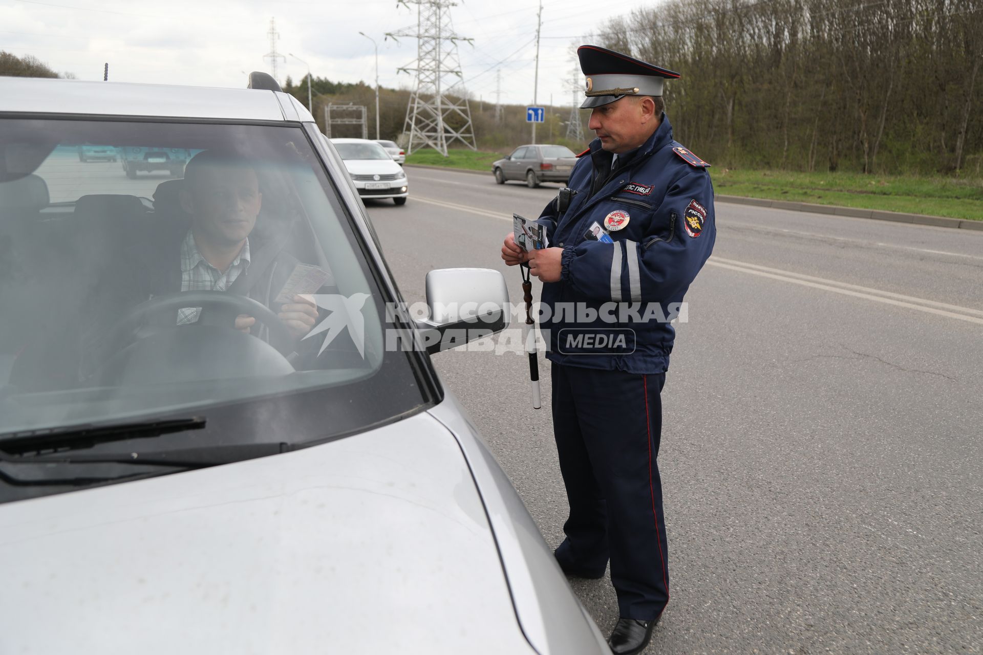
[[[669,599],[657,460],[669,320],[713,250],[714,190],[709,164],[672,140],[663,111],[663,85],[679,74],[594,45],[577,54],[597,138],[539,219],[551,247],[525,252],[510,234],[501,252],[544,283],[570,506],[556,560],[590,578],[610,561],[619,619],[608,644],[637,653]]]

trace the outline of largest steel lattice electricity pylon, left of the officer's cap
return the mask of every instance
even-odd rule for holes
[[[396,69],[397,73],[416,73],[417,83],[406,107],[403,131],[410,135],[406,154],[420,147],[432,147],[447,156],[447,144],[455,139],[477,150],[471,108],[461,75],[457,42],[473,39],[459,36],[450,21],[450,0],[398,0],[399,4],[417,5],[417,25],[387,32],[397,39],[417,39],[417,59]],[[398,40],[398,39],[397,39]]]

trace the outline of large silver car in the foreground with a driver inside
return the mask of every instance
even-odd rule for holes
[[[0,77],[0,654],[609,652],[431,360],[504,328],[501,274],[431,271],[414,320],[314,117],[252,78]],[[228,291],[182,291],[202,224],[248,233]]]

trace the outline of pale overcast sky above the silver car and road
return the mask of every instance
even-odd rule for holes
[[[569,88],[573,44],[600,31],[617,13],[657,0],[622,0],[617,12],[599,0],[544,0],[540,46],[539,103],[572,101]],[[613,4],[613,3],[611,3]],[[385,32],[416,27],[413,11],[396,0],[0,0],[0,50],[33,55],[58,72],[80,80],[101,80],[109,63],[112,82],[157,82],[202,86],[246,84],[243,72],[270,72],[269,24],[276,19],[280,82],[307,75],[332,81],[375,83],[372,42],[378,43],[378,79],[383,86],[410,87],[410,75],[396,69],[416,58],[413,38],[385,38]],[[501,101],[532,103],[536,55],[533,0],[459,0],[451,9],[455,31],[474,38],[461,43],[465,82],[475,97],[494,102],[495,72],[501,70]],[[654,62],[658,64],[659,62]],[[578,84],[582,78],[578,80]]]

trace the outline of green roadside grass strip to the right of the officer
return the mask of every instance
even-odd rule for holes
[[[983,220],[983,181],[711,168],[719,194]]]

